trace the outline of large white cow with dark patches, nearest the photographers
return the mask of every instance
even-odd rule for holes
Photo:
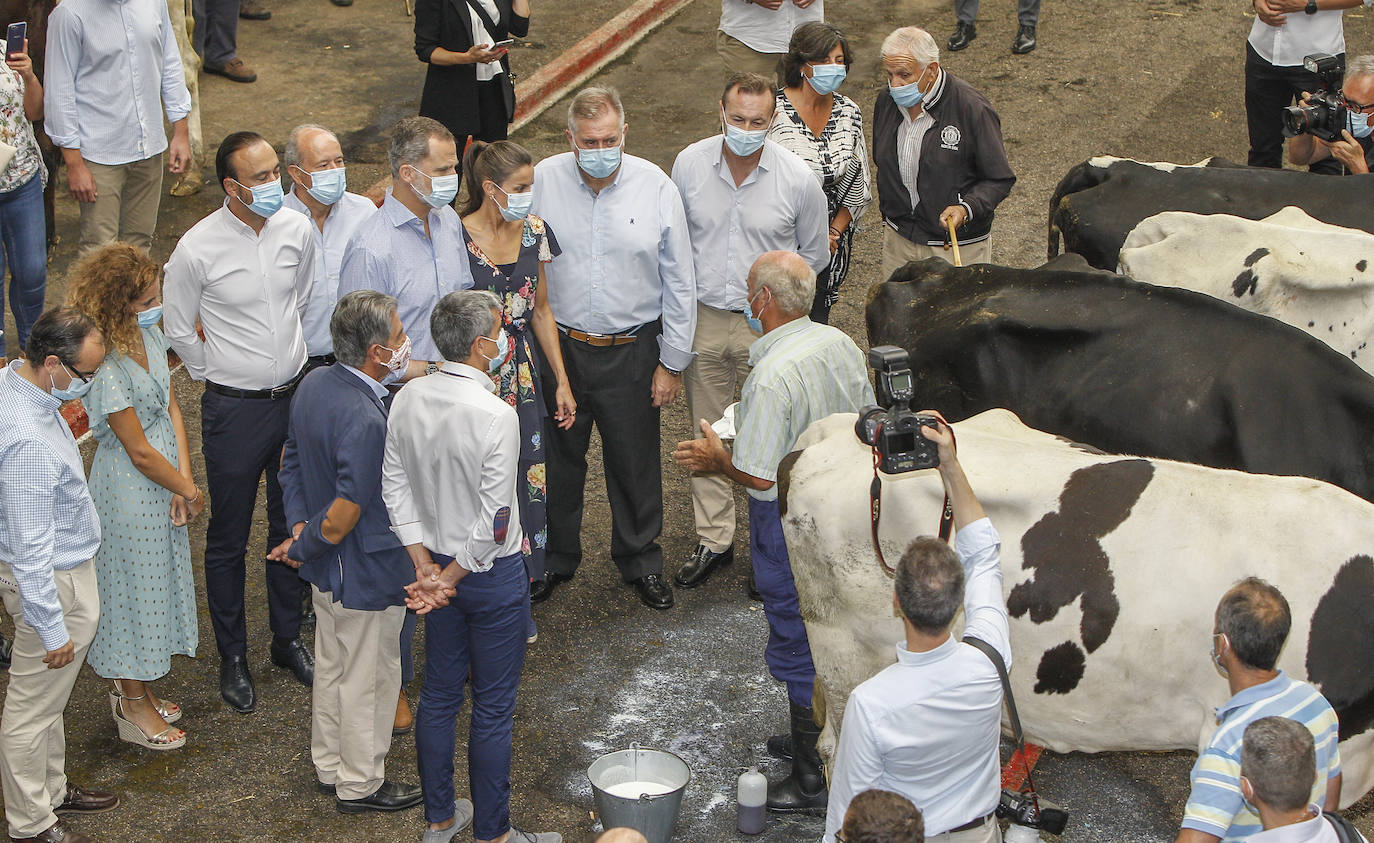
[[[849,692],[901,640],[870,540],[872,457],[853,422],[813,424],[779,475],[827,752]],[[1197,750],[1228,695],[1208,655],[1216,603],[1257,575],[1293,610],[1279,666],[1340,715],[1341,802],[1374,787],[1374,504],[1307,478],[1096,453],[1006,411],[954,427],[1002,534],[1026,740],[1059,752]],[[943,494],[936,470],[883,482],[889,560],[934,534]]]

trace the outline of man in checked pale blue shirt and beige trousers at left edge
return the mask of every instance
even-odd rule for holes
[[[55,811],[120,803],[63,772],[62,713],[100,619],[91,563],[100,520],[59,411],[89,389],[103,358],[95,324],[56,308],[33,324],[23,360],[0,371],[0,597],[15,630],[0,787],[11,840],[62,840],[69,831]]]

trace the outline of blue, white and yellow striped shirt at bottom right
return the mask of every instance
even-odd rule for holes
[[[1282,670],[1246,688],[1216,710],[1217,728],[1193,765],[1193,792],[1183,807],[1183,828],[1241,840],[1263,831],[1259,816],[1241,799],[1241,741],[1245,728],[1264,717],[1286,717],[1307,726],[1316,744],[1316,783],[1311,802],[1325,805],[1326,783],[1341,773],[1336,711],[1322,692]],[[1334,810],[1336,806],[1331,806]]]

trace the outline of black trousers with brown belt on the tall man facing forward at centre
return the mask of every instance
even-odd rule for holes
[[[664,531],[662,464],[658,408],[651,395],[658,334],[654,321],[640,328],[635,342],[607,347],[558,335],[577,400],[577,420],[570,430],[558,430],[552,412],[545,419],[548,571],[572,575],[583,562],[583,498],[594,423],[600,431],[610,497],[610,557],[625,582],[664,571],[664,551],[658,545]],[[552,373],[543,382],[555,383]]]

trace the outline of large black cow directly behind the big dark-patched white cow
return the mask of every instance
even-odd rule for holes
[[[1374,378],[1267,316],[1058,264],[932,258],[875,286],[867,321],[871,345],[911,353],[912,406],[954,420],[1000,406],[1107,452],[1311,476],[1374,500]]]

